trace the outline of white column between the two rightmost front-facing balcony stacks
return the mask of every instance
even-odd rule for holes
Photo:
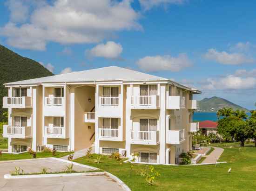
[[[127,85],[126,88],[126,139],[125,139],[125,149],[127,157],[131,155],[131,130],[132,130],[132,120],[131,120],[131,96],[133,92],[133,85]]]

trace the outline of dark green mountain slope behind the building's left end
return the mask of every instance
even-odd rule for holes
[[[2,108],[3,97],[8,95],[7,88],[4,88],[3,83],[52,75],[52,72],[38,62],[22,57],[0,45],[0,121],[4,111]]]

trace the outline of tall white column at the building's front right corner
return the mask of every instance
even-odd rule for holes
[[[160,164],[165,164],[166,154],[166,84],[160,86]]]

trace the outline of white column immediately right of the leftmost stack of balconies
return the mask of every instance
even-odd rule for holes
[[[32,149],[36,151],[36,99],[37,99],[37,88],[31,89],[32,90]]]

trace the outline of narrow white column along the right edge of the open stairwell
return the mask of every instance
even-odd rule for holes
[[[95,87],[95,153],[100,153],[100,140],[99,140],[99,118],[97,111],[99,109],[99,85]]]

